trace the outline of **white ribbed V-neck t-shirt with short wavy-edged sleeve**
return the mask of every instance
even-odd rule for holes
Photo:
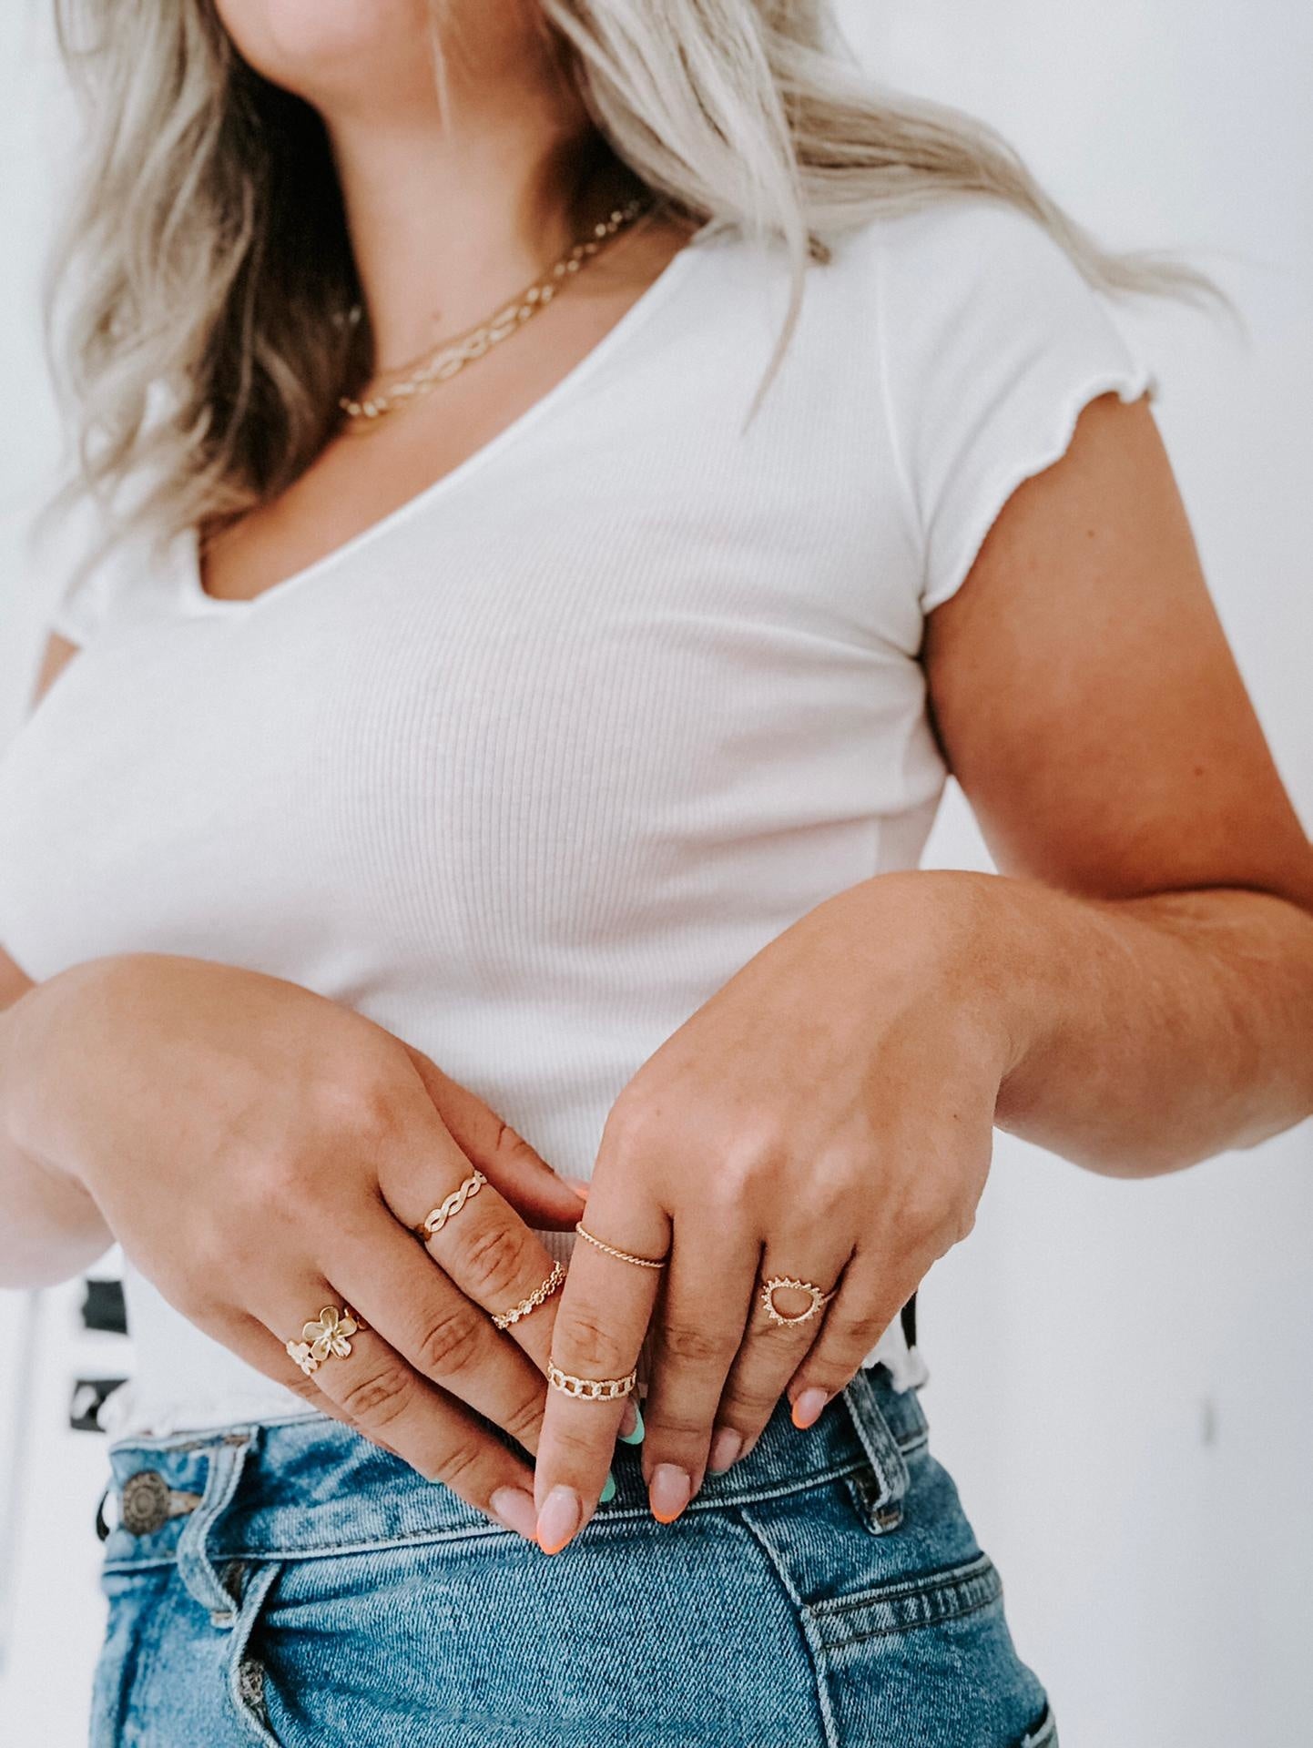
[[[129,951],[292,979],[587,1176],[689,1014],[918,864],[923,617],[1087,400],[1154,388],[1047,232],[958,196],[809,266],[745,430],[787,281],[703,227],[528,413],[252,601],[205,594],[192,535],[68,589],[82,652],[0,762],[0,944],[35,979]],[[308,1412],[128,1264],[114,1435]],[[897,1320],[876,1360],[927,1376]]]

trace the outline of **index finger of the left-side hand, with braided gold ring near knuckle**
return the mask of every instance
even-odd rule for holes
[[[483,1169],[474,1169],[463,1154],[453,1152],[455,1159],[441,1166],[432,1157],[423,1162],[409,1155],[386,1161],[379,1171],[379,1190],[395,1215],[397,1231],[406,1229],[420,1260],[427,1252],[432,1259],[428,1267],[437,1264],[479,1306],[484,1321],[495,1316],[507,1320],[505,1334],[528,1355],[542,1383],[565,1266],[547,1253],[511,1203],[483,1178]],[[428,1238],[420,1239],[414,1229],[425,1222]],[[414,1278],[414,1269],[409,1274]],[[488,1328],[498,1337],[498,1325],[488,1321]]]

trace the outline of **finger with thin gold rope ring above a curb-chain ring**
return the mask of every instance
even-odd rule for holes
[[[668,1215],[650,1201],[636,1201],[633,1189],[621,1194],[594,1185],[587,1229],[638,1257],[663,1259],[670,1246]],[[663,1269],[621,1262],[579,1238],[552,1332],[551,1358],[559,1374],[589,1381],[584,1388],[628,1377],[638,1362],[661,1274]],[[558,1554],[596,1510],[622,1407],[624,1397],[617,1395],[547,1390],[533,1472],[538,1545],[545,1554]]]

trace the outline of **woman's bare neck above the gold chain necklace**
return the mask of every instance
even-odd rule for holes
[[[378,374],[537,278],[629,175],[559,80],[465,79],[449,112],[325,115]]]

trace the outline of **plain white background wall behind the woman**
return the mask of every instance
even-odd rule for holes
[[[44,0],[0,12],[0,732],[19,718],[52,582],[19,556],[54,454],[35,271],[54,198],[42,142],[66,124],[37,52],[44,12]],[[1189,248],[1240,301],[1250,346],[1178,306],[1117,316],[1152,355],[1219,610],[1311,823],[1313,12],[1304,0],[850,0],[844,21],[885,80],[1000,126],[1107,243]],[[955,794],[928,860],[988,865]],[[937,1449],[1004,1571],[1065,1748],[1310,1739],[1311,1231],[1310,1126],[1149,1183],[1000,1138],[972,1238],[921,1294]],[[101,1453],[59,1428],[66,1379],[96,1370],[103,1344],[72,1339],[75,1299],[44,1309],[5,1575],[19,1613],[0,1743],[24,1748],[82,1739],[98,1631]],[[19,1313],[0,1297],[0,1414]]]

